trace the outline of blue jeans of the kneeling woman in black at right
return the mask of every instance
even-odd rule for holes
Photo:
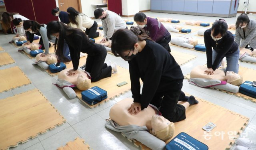
[[[224,55],[224,57],[226,57],[226,59],[227,59],[226,71],[233,71],[234,73],[238,73],[238,70],[239,70],[239,65],[238,65],[239,53],[240,53],[240,50],[239,50],[239,47],[238,47],[237,51],[235,51],[234,53],[227,53],[227,54]],[[215,51],[215,49],[212,49],[212,64],[214,63],[214,60],[216,59],[217,54],[218,53]],[[221,65],[221,62],[218,65],[217,69],[220,67],[220,65]]]

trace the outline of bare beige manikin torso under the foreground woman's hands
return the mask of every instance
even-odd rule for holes
[[[110,118],[115,121],[120,126],[124,125],[137,125],[137,126],[144,126],[150,130],[151,126],[151,119],[154,114],[157,113],[155,109],[148,106],[146,109],[143,109],[138,114],[130,114],[128,113],[128,108],[133,103],[132,99],[124,99],[118,103],[116,103],[109,112]]]

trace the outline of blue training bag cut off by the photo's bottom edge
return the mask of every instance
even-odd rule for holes
[[[181,132],[166,144],[166,150],[208,150],[208,146]]]

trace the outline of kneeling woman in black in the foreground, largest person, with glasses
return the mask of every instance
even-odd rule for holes
[[[128,109],[137,114],[149,104],[160,108],[162,115],[171,122],[186,118],[188,106],[198,103],[193,96],[181,91],[183,74],[174,57],[146,34],[138,37],[128,29],[117,30],[112,38],[112,53],[129,63],[132,98]],[[143,81],[140,93],[140,79]],[[186,101],[183,105],[178,101]]]

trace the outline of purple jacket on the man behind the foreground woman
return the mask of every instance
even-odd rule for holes
[[[168,35],[169,32],[166,30],[162,23],[160,23],[159,28],[158,20],[156,20],[155,18],[147,17],[147,21],[147,26],[144,28],[144,30],[154,41],[161,41],[164,36]]]

